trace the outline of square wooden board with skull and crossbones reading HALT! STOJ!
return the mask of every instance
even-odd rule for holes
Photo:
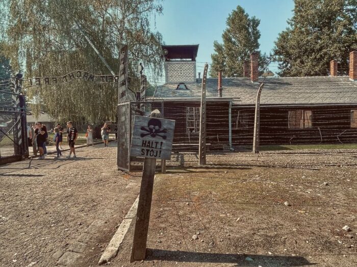
[[[135,116],[130,155],[170,160],[174,129],[175,121]]]

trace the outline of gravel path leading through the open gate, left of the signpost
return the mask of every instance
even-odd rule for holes
[[[52,255],[66,252],[105,215],[100,238],[85,250],[97,262],[101,242],[110,240],[139,192],[141,176],[117,170],[115,146],[79,149],[75,160],[53,155],[0,166],[0,266],[54,266]]]

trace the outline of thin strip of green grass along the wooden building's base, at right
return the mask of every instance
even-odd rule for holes
[[[318,149],[357,149],[357,144],[272,144],[261,145],[260,151],[279,151],[279,150],[318,150]]]

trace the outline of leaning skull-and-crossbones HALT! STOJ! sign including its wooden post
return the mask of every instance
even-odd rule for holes
[[[151,117],[135,116],[134,120],[130,155],[145,157],[145,160],[130,262],[145,259],[156,159],[171,159],[175,121],[160,119],[160,116],[156,109]]]

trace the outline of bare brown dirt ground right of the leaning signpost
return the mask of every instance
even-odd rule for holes
[[[147,259],[129,262],[131,227],[111,265],[357,266],[356,156],[210,155],[209,168],[171,168],[155,180]]]

